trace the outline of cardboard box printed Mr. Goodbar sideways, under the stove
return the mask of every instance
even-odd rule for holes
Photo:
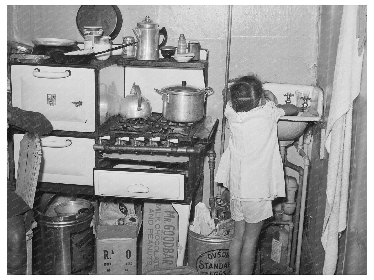
[[[142,274],[177,266],[178,213],[171,203],[144,202]]]

